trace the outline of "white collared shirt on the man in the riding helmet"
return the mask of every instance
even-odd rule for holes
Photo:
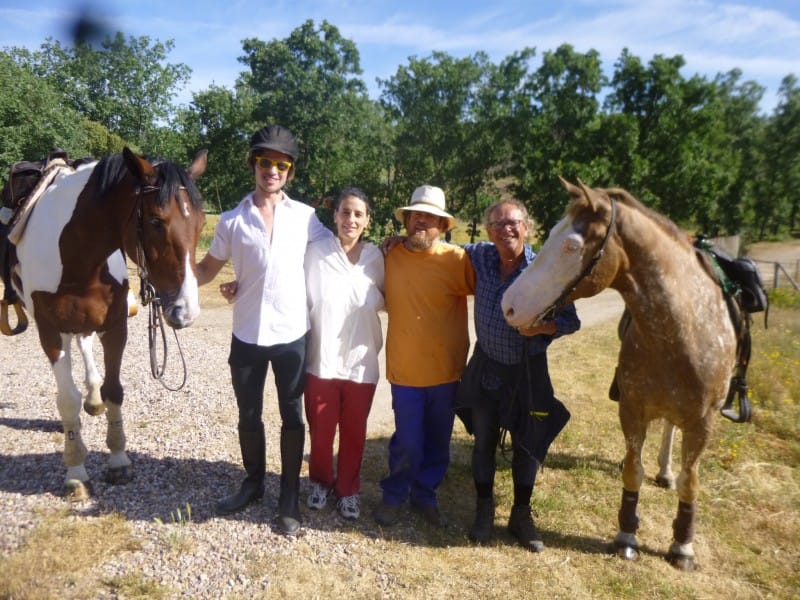
[[[233,261],[238,282],[233,335],[259,346],[286,344],[305,335],[306,247],[333,237],[312,207],[285,193],[275,205],[271,240],[252,193],[222,213],[208,251],[214,258]]]

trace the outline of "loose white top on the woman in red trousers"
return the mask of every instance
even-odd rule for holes
[[[306,370],[322,379],[377,383],[383,333],[383,254],[364,243],[352,264],[337,237],[308,246],[306,292],[311,335]]]

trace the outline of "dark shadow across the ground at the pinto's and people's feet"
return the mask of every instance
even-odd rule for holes
[[[22,419],[19,421],[24,422]],[[60,429],[58,422],[55,425],[54,430]],[[448,520],[445,527],[429,525],[419,515],[412,513],[408,505],[403,508],[396,525],[381,527],[375,522],[373,512],[381,503],[379,482],[388,470],[388,442],[389,438],[385,436],[367,439],[361,473],[361,517],[355,521],[345,520],[338,514],[334,497],[329,499],[328,505],[322,510],[314,511],[306,507],[311,484],[304,468],[300,481],[300,510],[303,518],[300,535],[315,530],[342,531],[370,539],[396,540],[414,546],[472,545],[467,537],[475,506],[470,467],[472,440],[464,436],[454,436],[451,442],[450,468],[438,490],[439,505]],[[194,458],[154,457],[138,452],[129,452],[129,456],[134,463],[133,480],[125,485],[111,485],[104,480],[108,453],[89,452],[86,469],[92,478],[94,494],[87,501],[67,504],[61,498],[65,473],[61,452],[0,455],[0,490],[50,498],[56,503],[70,506],[76,514],[84,516],[117,513],[130,521],[159,519],[166,524],[181,520],[204,523],[210,519],[224,519],[272,527],[277,516],[279,473],[267,472],[263,500],[254,502],[234,515],[219,516],[215,512],[216,503],[223,496],[235,492],[244,478],[240,465]],[[268,464],[274,464],[274,459],[276,457],[268,456]],[[601,468],[616,472],[617,465],[606,462],[608,464]],[[570,469],[577,464],[579,461],[569,455],[554,453],[548,457],[545,468]],[[500,454],[497,466],[498,473],[511,468]],[[492,544],[513,546],[516,543],[505,531],[502,522],[501,513],[507,508],[498,507]],[[273,531],[277,533],[276,529]],[[541,532],[545,545],[598,554],[609,551],[607,540],[564,536],[547,529],[541,529]]]

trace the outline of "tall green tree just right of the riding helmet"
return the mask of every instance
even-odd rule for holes
[[[368,127],[380,116],[359,77],[355,44],[327,21],[308,20],[285,40],[251,38],[243,49],[239,60],[249,72],[241,82],[259,96],[254,120],[285,125],[298,138],[294,194],[319,199],[347,184],[374,187],[384,163],[371,162],[372,148],[385,132]],[[368,173],[376,173],[372,181],[355,181]]]

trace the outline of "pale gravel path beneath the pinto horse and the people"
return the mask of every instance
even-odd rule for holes
[[[582,302],[587,303],[579,308],[584,326],[621,311],[616,292]],[[601,308],[593,310],[588,303]],[[129,341],[123,360],[126,394],[123,413],[128,452],[135,469],[131,483],[111,486],[103,481],[107,456],[105,417],[94,418],[85,413],[81,417],[84,442],[89,450],[87,470],[95,494],[86,502],[72,505],[72,510],[87,517],[122,514],[142,542],[141,549],[124,554],[124,561],[103,562],[98,567],[101,571],[98,577],[109,579],[134,572],[172,590],[181,590],[181,595],[210,598],[250,594],[253,582],[246,573],[254,553],[263,555],[260,557],[263,560],[279,560],[296,544],[324,548],[326,560],[340,560],[348,568],[357,569],[357,565],[348,564],[347,544],[352,540],[342,540],[337,535],[343,522],[328,511],[311,513],[303,508],[306,522],[302,541],[272,530],[279,487],[276,475],[279,419],[271,381],[265,400],[268,440],[265,501],[232,518],[214,514],[216,500],[235,489],[242,477],[235,437],[236,410],[227,366],[230,309],[206,308],[191,328],[178,332],[188,366],[186,386],[178,392],[165,391],[150,376],[146,325],[144,311],[129,321]],[[65,506],[61,497],[63,434],[55,406],[55,382],[39,346],[35,326],[22,335],[3,337],[0,348],[0,555],[7,556],[23,543],[27,532],[43,514]],[[169,353],[167,379],[174,385],[179,382],[181,371],[171,334]],[[99,342],[95,355],[98,364],[102,364]],[[82,363],[76,352],[73,357],[75,379],[81,382]],[[370,438],[386,438],[391,434],[392,424],[389,387],[381,381],[369,420]],[[304,464],[303,486],[307,485],[306,474]],[[362,518],[356,525],[363,534],[359,543],[378,543],[381,534],[369,516],[372,505],[379,499],[377,482],[365,481],[362,497],[365,498]],[[170,523],[170,514],[184,510],[187,503],[192,511],[192,551],[169,552],[163,537],[164,526],[156,519]],[[236,540],[235,546],[230,543],[232,539]],[[242,552],[242,548],[248,551]],[[259,585],[268,586],[268,582]]]

